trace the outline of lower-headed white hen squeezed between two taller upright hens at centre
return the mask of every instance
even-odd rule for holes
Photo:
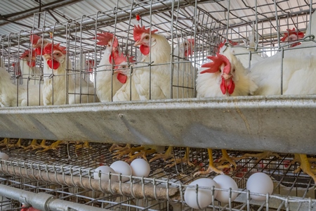
[[[129,57],[129,63],[134,62],[133,57]],[[131,73],[131,68],[127,62],[127,56],[121,53],[121,55],[114,58],[114,63],[114,73],[123,86],[113,96],[113,101],[139,101],[140,98],[133,81],[133,73]]]

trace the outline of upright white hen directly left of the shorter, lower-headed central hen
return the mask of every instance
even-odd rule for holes
[[[110,62],[121,51],[117,37],[110,32],[103,32],[96,37],[98,45],[107,46],[96,72],[96,94],[101,102],[112,101],[112,96],[122,87],[117,78],[117,74],[112,74],[112,63]]]

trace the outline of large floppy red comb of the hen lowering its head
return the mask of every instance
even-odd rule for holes
[[[220,65],[224,63],[225,67],[223,68],[223,72],[226,74],[230,73],[230,60],[222,54],[216,53],[216,56],[206,56],[207,58],[211,59],[212,62],[210,63],[205,63],[201,66],[201,68],[208,68],[207,70],[203,70],[201,72],[209,72],[209,73],[215,73],[218,71],[218,68],[220,68]]]

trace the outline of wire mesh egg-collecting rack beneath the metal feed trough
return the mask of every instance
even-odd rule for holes
[[[21,146],[14,146],[17,141],[17,139],[10,139],[8,144],[1,146],[0,151],[8,154],[9,160],[1,163],[0,173],[6,175],[5,177],[19,178],[20,183],[32,184],[32,188],[21,184],[15,186],[28,191],[51,193],[65,200],[100,207],[115,208],[130,205],[137,207],[141,203],[140,207],[143,210],[160,210],[166,207],[169,207],[169,210],[171,207],[174,210],[190,210],[183,199],[185,188],[196,179],[193,177],[195,172],[206,169],[209,165],[206,149],[191,148],[189,157],[190,162],[195,164],[194,167],[187,165],[186,162],[166,167],[173,162],[173,158],[166,162],[156,160],[150,163],[149,177],[131,177],[130,181],[117,182],[109,186],[108,183],[100,184],[98,180],[92,179],[93,170],[96,167],[111,165],[117,160],[109,151],[112,146],[109,143],[90,143],[88,148],[82,148],[80,145],[76,147],[75,142],[68,142],[62,143],[55,150],[42,151],[43,148],[25,150]],[[29,146],[31,141],[22,139],[21,145]],[[46,141],[46,145],[51,143],[53,141]],[[238,157],[250,152],[228,151],[228,153],[230,156]],[[184,154],[185,148],[173,149],[174,158],[181,158]],[[313,209],[315,204],[314,182],[303,172],[294,174],[298,165],[289,165],[294,159],[293,155],[279,155],[282,159],[273,156],[260,162],[256,162],[256,158],[237,160],[236,168],[224,169],[223,172],[237,182],[239,196],[228,205],[214,200],[213,205],[209,205],[209,208]],[[148,160],[152,157],[153,155],[147,155]],[[214,162],[218,162],[220,157],[221,152],[213,150]],[[120,160],[127,158],[127,156],[123,156]],[[273,194],[268,196],[267,202],[251,200],[249,197],[251,195],[246,191],[246,181],[254,172],[265,172],[274,183]],[[215,176],[216,174],[211,173],[207,177]],[[6,184],[10,183],[6,182]]]

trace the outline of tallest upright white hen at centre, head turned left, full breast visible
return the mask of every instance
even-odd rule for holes
[[[171,46],[166,37],[155,34],[158,30],[134,26],[135,46],[143,54],[133,73],[140,100],[170,98]],[[150,64],[150,66],[148,65]]]

